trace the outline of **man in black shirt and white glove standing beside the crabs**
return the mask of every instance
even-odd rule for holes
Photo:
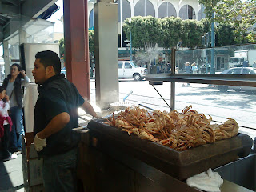
[[[34,108],[34,148],[43,158],[45,191],[76,191],[79,136],[78,107],[96,117],[89,102],[60,74],[58,54],[50,50],[35,55],[34,76],[38,100]]]

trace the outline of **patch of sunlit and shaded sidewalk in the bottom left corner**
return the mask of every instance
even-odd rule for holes
[[[24,191],[22,154],[18,158],[0,162],[0,192]]]

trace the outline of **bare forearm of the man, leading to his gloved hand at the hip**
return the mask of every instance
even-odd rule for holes
[[[70,122],[70,115],[68,113],[63,112],[56,115],[48,123],[46,128],[38,133],[38,138],[48,138],[50,135],[57,133],[59,130],[62,130],[68,122]]]

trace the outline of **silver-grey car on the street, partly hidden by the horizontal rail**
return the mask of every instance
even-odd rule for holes
[[[256,74],[256,70],[252,67],[234,67],[230,68],[228,70],[224,70],[220,74]],[[251,86],[218,86],[218,90],[221,92],[226,92],[227,90],[235,90],[235,91],[241,91],[241,90],[250,90],[250,91],[256,91],[256,87]]]

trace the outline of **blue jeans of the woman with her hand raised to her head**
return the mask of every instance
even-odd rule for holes
[[[10,132],[10,148],[15,150],[22,149],[22,136],[24,133],[22,108],[13,106],[10,108],[10,118],[13,122]]]

